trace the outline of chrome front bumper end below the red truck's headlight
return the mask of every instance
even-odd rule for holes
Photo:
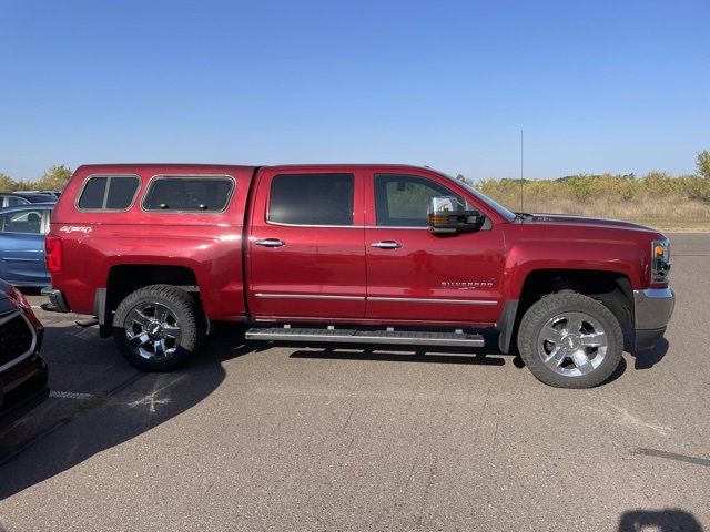
[[[637,350],[650,349],[663,337],[676,307],[670,288],[633,290],[633,316]]]

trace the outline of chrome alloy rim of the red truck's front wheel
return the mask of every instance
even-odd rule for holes
[[[537,354],[556,374],[579,377],[604,361],[609,339],[599,321],[585,313],[562,313],[548,319],[537,337]]]

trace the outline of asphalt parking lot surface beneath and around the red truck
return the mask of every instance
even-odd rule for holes
[[[668,341],[591,390],[239,328],[141,374],[38,310],[53,396],[0,432],[0,530],[710,530],[710,235],[671,242]]]

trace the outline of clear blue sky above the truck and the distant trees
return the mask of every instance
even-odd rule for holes
[[[710,2],[0,0],[0,172],[396,162],[694,171]]]

